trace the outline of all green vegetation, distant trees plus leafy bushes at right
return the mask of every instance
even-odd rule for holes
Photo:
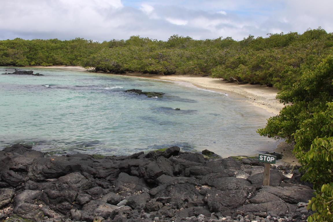
[[[308,29],[303,34],[249,35],[194,40],[171,36],[158,41],[140,36],[94,42],[0,41],[1,66],[75,65],[92,72],[209,75],[239,84],[279,89],[286,106],[258,133],[295,142],[294,154],[303,180],[313,183],[316,197],[308,207],[312,221],[333,221],[333,34]]]

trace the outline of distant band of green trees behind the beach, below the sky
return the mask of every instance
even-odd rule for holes
[[[94,42],[76,38],[69,41],[0,41],[1,66],[82,66],[90,71],[151,74],[210,75],[231,82],[261,84],[280,88],[290,77],[289,69],[313,67],[332,53],[333,36],[324,29],[303,34],[249,35],[241,41],[230,37],[194,40],[173,35],[167,41],[140,36],[128,40]]]

